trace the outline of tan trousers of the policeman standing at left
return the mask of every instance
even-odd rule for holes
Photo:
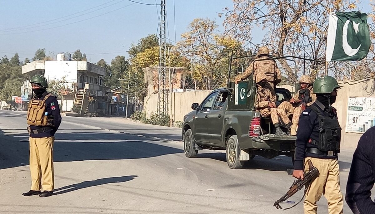
[[[54,188],[53,143],[54,137],[30,137],[31,190],[52,191]]]

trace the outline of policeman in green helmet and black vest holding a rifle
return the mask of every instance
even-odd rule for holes
[[[331,76],[319,77],[313,92],[317,100],[304,110],[299,118],[293,177],[303,179],[303,169],[308,160],[318,169],[319,176],[313,180],[303,203],[305,214],[317,213],[321,195],[328,201],[329,214],[343,213],[343,196],[340,189],[339,163],[341,127],[337,120],[335,103],[340,86]],[[305,163],[304,163],[305,162]]]

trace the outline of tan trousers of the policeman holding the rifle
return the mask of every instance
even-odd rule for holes
[[[338,160],[306,158],[305,169],[309,168],[307,163],[307,160],[309,159],[311,160],[312,165],[318,169],[319,177],[311,183],[311,186],[306,193],[306,198],[303,202],[305,214],[317,214],[317,202],[322,195],[324,195],[328,201],[329,214],[342,214],[344,199],[340,189]]]

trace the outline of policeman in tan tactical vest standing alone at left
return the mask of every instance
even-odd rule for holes
[[[48,84],[44,76],[36,75],[30,83],[35,94],[27,110],[31,188],[23,195],[48,197],[54,189],[53,143],[61,123],[60,108],[56,97],[46,91]]]

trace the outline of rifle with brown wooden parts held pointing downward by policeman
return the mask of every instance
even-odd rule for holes
[[[298,192],[299,190],[302,189],[302,187],[307,187],[311,181],[316,178],[318,175],[319,175],[319,171],[318,169],[312,165],[311,161],[308,160],[307,161],[308,164],[309,164],[309,169],[306,170],[305,172],[303,172],[303,180],[300,178],[298,180],[295,180],[292,184],[292,186],[289,188],[288,192],[285,193],[285,195],[283,195],[279,200],[277,200],[275,202],[275,204],[273,204],[274,207],[276,207],[276,209],[279,209],[281,208],[282,210],[288,210],[292,207],[295,207],[299,202],[302,201],[303,197],[305,196],[306,194],[306,190],[305,190],[305,194],[302,196],[302,199],[301,201],[299,201],[296,205],[293,205],[292,207],[289,207],[289,208],[285,208],[283,209],[279,203],[281,202],[284,202],[285,200],[287,200],[289,197],[291,197],[292,195],[294,195],[296,192]],[[289,171],[288,170],[288,174],[293,174],[293,171]]]

